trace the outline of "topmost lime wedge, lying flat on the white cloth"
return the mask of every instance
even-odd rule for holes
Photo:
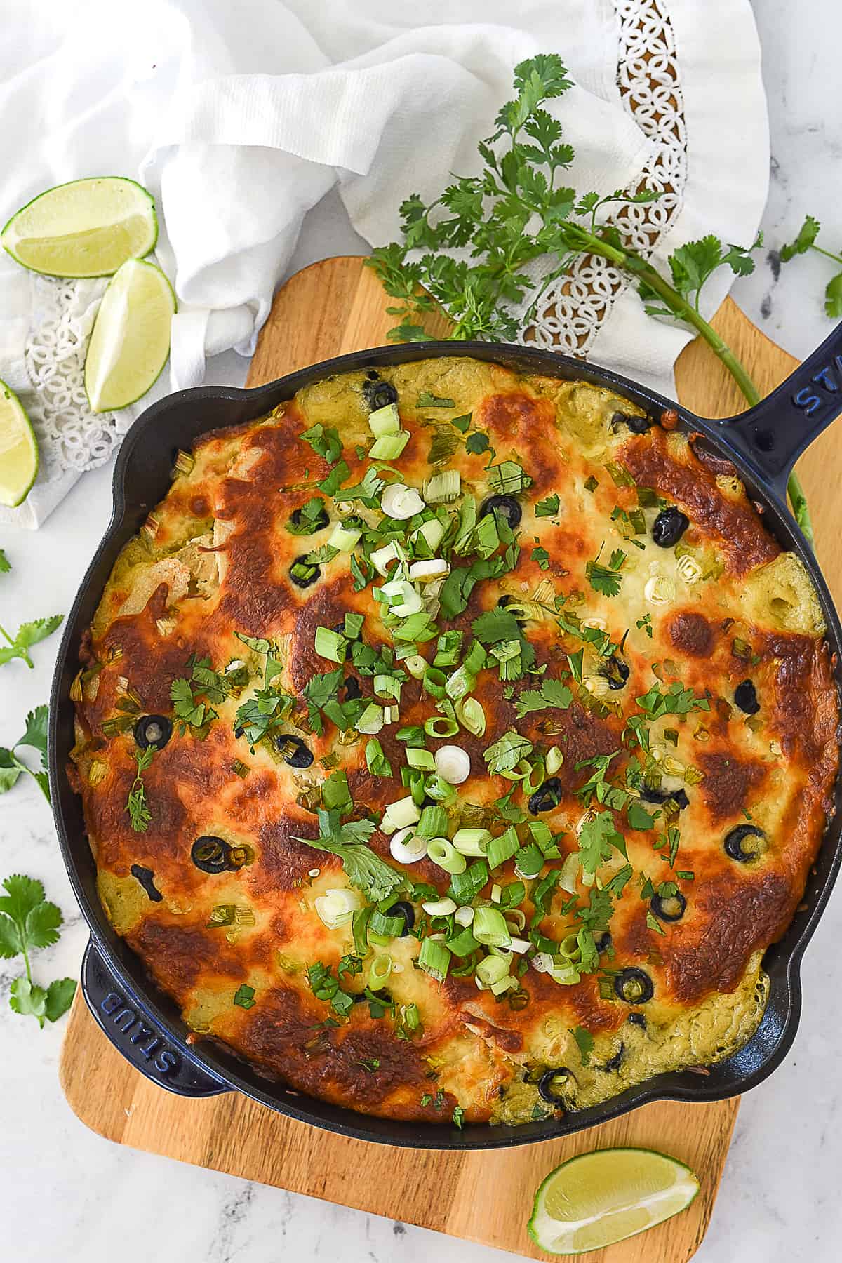
[[[0,242],[24,268],[48,277],[110,277],[158,240],[151,195],[122,176],[48,188],[11,216]]]

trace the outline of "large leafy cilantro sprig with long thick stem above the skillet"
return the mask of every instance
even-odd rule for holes
[[[477,147],[481,173],[457,177],[429,205],[418,193],[401,203],[401,241],[379,246],[367,260],[386,293],[400,303],[389,308],[399,317],[389,337],[429,340],[424,321],[443,312],[453,322],[452,338],[514,341],[531,323],[547,287],[569,272],[579,255],[596,255],[630,277],[648,312],[701,335],[749,404],[759,403],[761,395],[747,369],[702,316],[699,294],[721,266],[737,275],[752,272],[751,253],[761,237],[749,248],[723,245],[712,235],[689,241],[670,255],[669,278],[661,275],[610,217],[601,222],[605,215],[600,216],[615,205],[656,201],[659,192],[579,193],[560,179],[574,152],[563,139],[560,123],[543,106],[571,86],[554,53],[520,62],[514,99],[501,106],[494,133]],[[550,260],[538,287],[525,270],[537,259]],[[516,307],[529,292],[533,301],[519,318]],[[842,279],[837,293],[842,303]],[[804,494],[794,475],[789,490],[799,525],[812,542]]]

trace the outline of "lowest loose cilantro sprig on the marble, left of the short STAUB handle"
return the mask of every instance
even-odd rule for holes
[[[71,1007],[76,981],[59,978],[49,986],[33,983],[30,952],[58,942],[62,913],[44,898],[44,887],[32,877],[14,874],[3,883],[0,895],[0,957],[23,956],[25,975],[11,983],[9,1007],[38,1019],[38,1024],[57,1022]]]

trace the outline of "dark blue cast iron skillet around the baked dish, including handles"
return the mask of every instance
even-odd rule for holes
[[[733,461],[752,499],[762,505],[764,520],[773,534],[784,548],[795,549],[809,570],[827,619],[827,635],[839,682],[842,628],[815,560],[786,508],[786,477],[810,440],[842,410],[842,325],[774,394],[750,412],[722,422],[703,421],[616,373],[548,351],[489,342],[381,346],[300,369],[255,390],[230,386],[182,390],[153,404],[133,426],[115,465],[111,523],[64,623],[49,702],[49,782],[64,863],[91,930],[82,962],[82,990],[107,1037],[148,1079],[183,1096],[241,1091],[304,1123],[381,1144],[491,1149],[592,1127],[646,1101],[721,1100],[755,1086],[771,1074],[795,1036],[800,1013],[798,971],[802,954],[842,859],[842,782],[837,783],[837,813],[808,882],[805,909],[795,916],[783,940],[766,952],[764,965],[771,979],[769,1005],[745,1048],[702,1075],[691,1071],[658,1075],[602,1105],[564,1118],[513,1128],[476,1125],[458,1130],[449,1122],[418,1125],[356,1114],[304,1096],[276,1079],[266,1077],[212,1041],[188,1045],[188,1031],[175,1005],[149,979],[141,961],[115,935],[104,914],[96,894],[96,871],[85,834],[82,803],[66,774],[73,745],[73,706],[68,693],[80,666],[81,635],[91,623],[117,552],[167,493],[175,448],[189,448],[205,431],[261,417],[300,386],[329,374],[451,355],[471,355],[524,373],[578,378],[606,385],[653,417],[659,417],[665,408],[674,408],[682,428],[701,432],[716,451]]]

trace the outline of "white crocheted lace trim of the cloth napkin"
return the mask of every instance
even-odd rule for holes
[[[636,188],[658,189],[658,202],[627,206],[610,221],[635,249],[649,254],[682,206],[687,176],[683,100],[667,0],[614,0],[619,25],[619,86],[626,110],[656,152]],[[85,349],[105,280],[32,278],[33,328],[25,366],[30,417],[47,479],[102,465],[120,445],[134,412],[91,413],[83,385]],[[587,355],[612,303],[627,285],[603,259],[579,256],[544,290],[521,341]],[[30,402],[32,400],[32,402]]]

